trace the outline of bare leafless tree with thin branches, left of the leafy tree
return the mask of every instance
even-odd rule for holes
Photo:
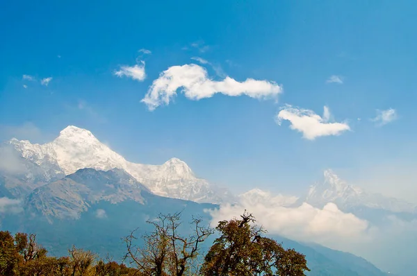
[[[190,222],[190,235],[182,236],[179,233],[181,212],[173,215],[159,214],[147,223],[154,230],[142,236],[145,241],[142,247],[133,243],[137,239],[134,236],[136,230],[124,238],[127,248],[125,259],[130,259],[131,264],[136,264],[140,272],[146,275],[184,275],[187,270],[195,267],[193,261],[199,253],[199,247],[213,234],[210,227],[202,225],[200,218],[193,218]]]

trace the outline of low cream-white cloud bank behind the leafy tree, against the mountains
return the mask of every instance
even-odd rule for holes
[[[278,198],[282,198],[279,196]],[[271,198],[275,198],[271,196]],[[292,201],[294,198],[292,199]],[[290,200],[291,202],[291,200]],[[286,200],[282,202],[288,204]],[[246,200],[240,198],[236,205],[220,205],[220,209],[209,210],[212,225],[218,221],[238,217],[247,212],[254,214],[257,223],[263,225],[268,233],[286,236],[299,241],[314,241],[332,244],[340,239],[356,240],[366,236],[368,222],[353,214],[341,212],[334,203],[328,203],[322,209],[307,203],[297,207],[279,205],[278,201]]]

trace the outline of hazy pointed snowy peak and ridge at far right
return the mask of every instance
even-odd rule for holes
[[[310,187],[304,201],[323,207],[328,202],[334,202],[339,208],[351,211],[358,207],[384,209],[390,212],[415,212],[415,206],[395,198],[387,198],[378,193],[367,193],[360,187],[347,184],[332,170],[325,170],[324,181]]]

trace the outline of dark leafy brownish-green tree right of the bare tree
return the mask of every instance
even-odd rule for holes
[[[304,255],[262,236],[266,231],[255,225],[252,214],[220,221],[216,230],[220,236],[204,258],[201,275],[301,276],[309,270]]]

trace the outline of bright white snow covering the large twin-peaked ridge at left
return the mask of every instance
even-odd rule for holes
[[[129,162],[102,144],[90,131],[76,126],[68,126],[47,144],[31,144],[17,139],[11,139],[8,143],[22,157],[35,164],[58,164],[65,175],[84,168],[103,171],[117,168],[132,175],[158,196],[211,203],[220,203],[229,198],[228,191],[217,189],[206,180],[197,178],[180,159],[172,158],[162,165]]]

